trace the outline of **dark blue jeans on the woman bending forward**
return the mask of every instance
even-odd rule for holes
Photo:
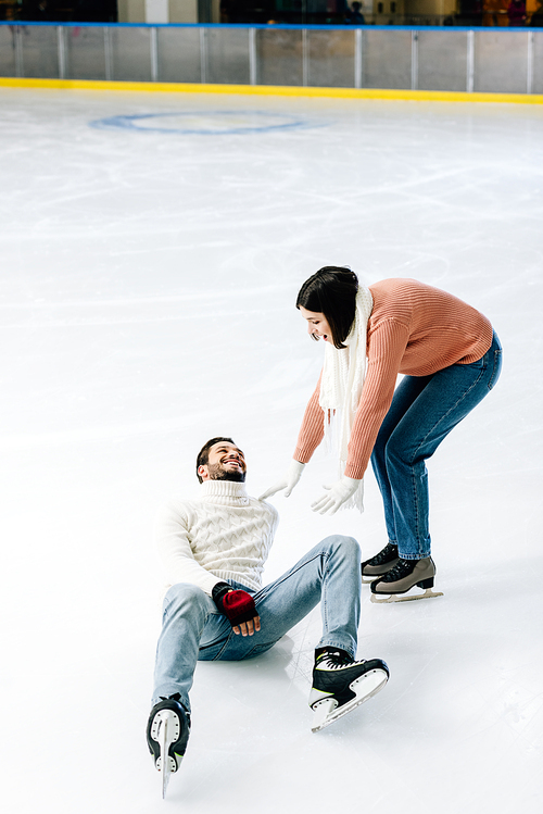
[[[404,560],[430,556],[429,459],[449,433],[492,390],[502,370],[494,334],[489,351],[471,364],[431,376],[405,376],[377,436],[371,465],[384,503],[390,542]]]

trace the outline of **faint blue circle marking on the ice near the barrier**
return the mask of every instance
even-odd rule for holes
[[[262,110],[182,111],[177,113],[136,113],[109,116],[90,122],[99,129],[121,128],[139,133],[182,134],[185,136],[229,136],[273,133],[305,127],[323,127],[289,113]]]

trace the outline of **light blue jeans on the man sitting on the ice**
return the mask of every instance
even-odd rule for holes
[[[361,550],[352,537],[332,535],[315,546],[275,583],[248,591],[261,617],[253,636],[236,635],[227,617],[201,588],[172,586],[164,598],[156,650],[153,705],[178,692],[190,711],[189,690],[197,661],[240,661],[269,650],[319,602],[323,637],[317,647],[336,647],[356,655],[361,613]]]

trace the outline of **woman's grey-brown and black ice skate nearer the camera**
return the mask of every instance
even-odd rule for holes
[[[424,560],[399,560],[392,571],[371,583],[371,602],[408,602],[413,599],[442,597],[441,591],[432,591],[434,576],[435,563],[431,556]],[[402,596],[408,591],[408,596]]]

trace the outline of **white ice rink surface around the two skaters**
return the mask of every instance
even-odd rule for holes
[[[543,109],[0,90],[4,811],[535,814],[542,805]],[[429,464],[441,599],[365,588],[361,658],[387,688],[323,732],[318,610],[268,654],[203,663],[165,802],[147,751],[163,578],[154,514],[194,496],[215,435],[260,494],[286,468],[323,347],[302,281],[349,264],[485,313],[498,386]],[[366,512],[310,510],[266,581]]]

